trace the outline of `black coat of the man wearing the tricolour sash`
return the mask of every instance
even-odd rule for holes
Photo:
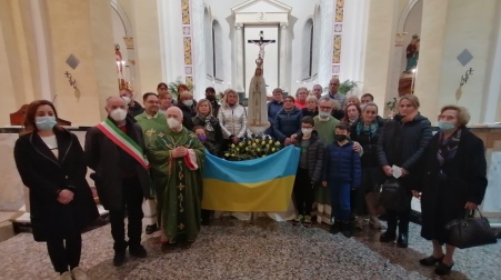
[[[127,119],[127,134],[144,151],[144,139],[141,127]],[[152,183],[146,170],[132,157],[124,158],[124,151],[111,141],[99,128],[93,127],[86,134],[86,160],[90,169],[96,171],[92,178],[96,181],[99,200],[108,210],[123,210],[122,196],[122,163],[133,162],[132,169],[137,172],[141,183],[143,197],[151,197]]]

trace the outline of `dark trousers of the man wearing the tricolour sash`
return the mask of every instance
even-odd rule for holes
[[[121,210],[110,210],[111,236],[113,237],[113,249],[126,250],[127,246],[140,246],[142,232],[142,189],[139,178],[128,177],[122,180],[122,203]],[[129,218],[128,236],[126,241],[126,210]]]

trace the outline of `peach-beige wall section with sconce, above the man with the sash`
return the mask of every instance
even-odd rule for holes
[[[117,94],[118,88],[110,3],[47,0],[44,4],[59,116],[74,126],[94,126],[106,114],[106,98]],[[66,63],[70,54],[80,60],[74,70]],[[70,86],[66,71],[78,90]]]

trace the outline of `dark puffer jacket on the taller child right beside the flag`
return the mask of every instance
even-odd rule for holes
[[[301,148],[302,132],[298,134],[294,146]],[[311,132],[310,146],[308,146],[307,162],[308,162],[308,176],[312,182],[320,182],[322,179],[322,162],[324,152],[322,140],[319,138],[319,133],[313,130]]]

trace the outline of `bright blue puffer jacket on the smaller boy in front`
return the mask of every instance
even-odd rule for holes
[[[360,156],[353,151],[353,142],[339,146],[334,141],[325,148],[322,181],[327,181],[329,186],[350,183],[353,189],[360,187],[361,173]]]

